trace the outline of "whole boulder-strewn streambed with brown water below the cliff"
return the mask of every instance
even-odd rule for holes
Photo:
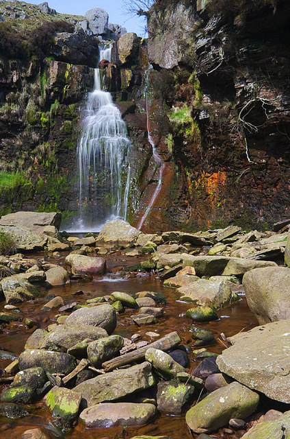
[[[7,216],[1,438],[290,437],[287,224],[81,237]]]

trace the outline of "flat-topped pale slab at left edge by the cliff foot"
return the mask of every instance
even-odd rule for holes
[[[40,235],[46,226],[55,226],[59,229],[61,222],[61,213],[16,212],[1,217],[0,226],[25,227]]]

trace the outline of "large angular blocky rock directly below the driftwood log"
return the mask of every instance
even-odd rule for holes
[[[124,396],[140,392],[155,384],[151,365],[148,362],[137,364],[124,370],[114,370],[88,379],[74,388],[81,394],[88,406],[96,405],[104,401],[116,401]]]

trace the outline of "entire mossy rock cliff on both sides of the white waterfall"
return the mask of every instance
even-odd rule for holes
[[[158,0],[148,42],[103,10],[16,4],[0,10],[1,213],[77,211],[79,117],[109,36],[113,59],[101,68],[133,143],[129,220],[158,183],[147,128],[164,169],[147,230],[289,217],[286,0]]]

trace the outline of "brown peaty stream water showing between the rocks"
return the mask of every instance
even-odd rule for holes
[[[52,259],[44,253],[35,254],[34,257],[46,259],[51,263],[64,263],[65,253],[58,259]],[[177,331],[181,337],[182,344],[188,346],[189,358],[191,361],[191,370],[196,368],[198,363],[194,361],[192,346],[192,333],[190,331],[192,327],[192,321],[185,317],[185,311],[191,307],[190,304],[181,302],[179,300],[179,294],[174,289],[163,287],[161,281],[157,276],[140,275],[135,277],[121,278],[118,274],[118,270],[125,265],[131,265],[142,258],[129,258],[124,256],[124,252],[118,251],[110,256],[105,256],[107,259],[106,276],[100,278],[94,278],[88,281],[76,280],[72,281],[71,285],[64,287],[53,287],[51,289],[43,289],[43,296],[34,300],[33,302],[25,302],[19,305],[21,313],[24,318],[31,318],[38,322],[37,327],[27,330],[24,323],[15,322],[10,324],[9,327],[4,329],[4,332],[0,334],[0,346],[8,349],[10,352],[19,355],[23,349],[27,338],[35,331],[36,328],[46,329],[49,324],[56,322],[55,316],[58,314],[58,310],[54,311],[41,311],[46,300],[44,297],[47,294],[54,294],[55,296],[62,296],[65,304],[70,302],[79,302],[83,304],[85,300],[109,295],[114,291],[127,292],[129,294],[135,294],[141,291],[153,291],[162,292],[167,297],[167,304],[164,305],[166,311],[166,318],[159,319],[159,322],[152,326],[137,327],[130,319],[129,316],[134,311],[127,310],[124,314],[118,316],[118,326],[114,333],[122,335],[124,337],[131,337],[134,333],[140,333],[142,335],[141,340],[148,340],[145,333],[148,331],[155,331],[161,335],[166,335],[172,331]],[[75,296],[74,293],[82,290],[83,295]],[[0,311],[3,310],[5,302],[0,303]],[[65,313],[64,313],[65,314]],[[239,331],[249,330],[257,325],[257,321],[250,313],[246,304],[244,296],[240,296],[238,302],[222,309],[218,312],[219,320],[209,323],[194,324],[194,326],[203,327],[213,331],[215,335],[216,343],[213,346],[207,348],[207,350],[221,353],[224,348],[220,337],[221,333],[224,333],[227,337],[234,335]],[[152,340],[150,340],[152,342]],[[5,368],[10,364],[11,360],[0,360],[0,368]],[[120,383],[122,385],[122,383]],[[0,385],[0,391],[5,388],[5,385]],[[152,394],[146,393],[142,396],[151,396]],[[139,395],[135,395],[135,401]],[[134,397],[134,396],[133,396]],[[133,397],[130,397],[130,401],[133,401]],[[171,436],[172,439],[191,439],[196,438],[197,435],[193,435],[186,423],[185,416],[172,416],[162,415],[159,416],[154,422],[146,427],[138,429],[124,429],[123,427],[116,427],[110,429],[87,429],[81,422],[78,423],[75,429],[63,434],[60,430],[57,430],[51,423],[51,416],[49,410],[44,406],[42,402],[36,405],[25,406],[29,412],[29,416],[16,420],[9,420],[8,418],[0,417],[0,439],[6,438],[20,438],[21,434],[27,429],[35,427],[43,427],[51,433],[55,438],[70,438],[70,439],[119,439],[119,438],[132,438],[133,436],[148,435],[148,436]],[[233,436],[232,434],[226,434],[223,430],[211,434],[213,438],[225,438],[230,439],[233,437],[238,438],[240,435]]]

